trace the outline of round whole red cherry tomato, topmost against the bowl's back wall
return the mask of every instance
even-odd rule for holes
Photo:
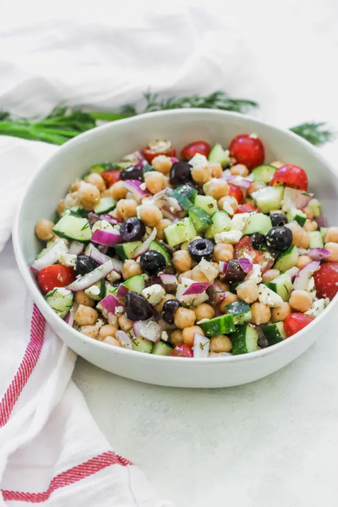
[[[233,138],[229,146],[230,155],[239,164],[244,164],[251,171],[264,163],[264,146],[259,137],[252,134],[240,134]]]

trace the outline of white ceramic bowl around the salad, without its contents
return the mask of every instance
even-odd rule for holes
[[[267,162],[281,160],[306,169],[310,190],[321,200],[329,223],[337,225],[338,179],[323,157],[292,132],[235,113],[174,110],[117,121],[68,141],[36,172],[15,220],[15,255],[32,298],[70,348],[99,368],[141,382],[176,387],[226,387],[276,372],[302,354],[317,336],[325,334],[337,311],[337,298],[303,331],[250,354],[191,359],[134,352],[87,338],[70,328],[45,302],[28,269],[41,249],[34,235],[36,221],[55,218],[58,200],[64,197],[69,184],[90,166],[120,160],[153,139],[170,139],[179,153],[186,143],[197,139],[228,146],[235,135],[253,132],[264,142]]]

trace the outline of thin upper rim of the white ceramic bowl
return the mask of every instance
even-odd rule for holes
[[[19,235],[19,225],[21,221],[21,210],[23,208],[24,202],[26,199],[28,199],[29,191],[32,188],[32,186],[35,184],[36,180],[40,177],[40,175],[46,170],[45,166],[47,164],[50,164],[52,161],[57,160],[60,157],[60,154],[62,154],[68,150],[72,150],[73,147],[77,146],[77,144],[81,144],[83,141],[89,140],[91,137],[95,137],[99,135],[101,132],[108,131],[108,130],[114,130],[116,128],[119,128],[121,124],[128,124],[132,122],[140,122],[142,123],[142,120],[144,118],[151,119],[153,117],[157,116],[164,116],[164,117],[171,117],[171,116],[185,116],[189,115],[194,117],[195,115],[198,116],[201,113],[208,114],[209,116],[222,116],[222,117],[228,117],[228,118],[241,118],[241,119],[247,119],[250,120],[250,122],[256,123],[257,125],[262,125],[265,127],[268,127],[270,130],[275,131],[278,134],[286,135],[287,137],[296,139],[298,144],[300,146],[303,146],[307,150],[310,150],[312,153],[312,156],[317,158],[321,164],[323,164],[331,173],[331,176],[335,178],[338,182],[338,174],[334,171],[333,166],[321,155],[319,151],[316,150],[316,148],[313,147],[313,145],[307,141],[306,139],[298,136],[297,134],[293,133],[290,130],[276,127],[274,125],[271,125],[268,122],[265,122],[263,120],[257,119],[250,115],[243,115],[241,113],[235,113],[231,111],[223,111],[223,110],[212,110],[207,108],[181,108],[181,109],[174,109],[174,110],[165,110],[165,111],[156,111],[152,113],[143,113],[139,114],[137,116],[132,116],[129,118],[125,118],[122,120],[116,120],[114,122],[107,123],[105,125],[100,125],[98,127],[95,127],[93,129],[90,129],[82,134],[79,134],[78,136],[70,139],[65,144],[63,144],[59,150],[57,150],[51,157],[49,157],[40,167],[37,169],[33,175],[28,179],[28,183],[25,187],[24,196],[21,199],[21,202],[19,204],[19,207],[16,211],[13,228],[12,228],[12,239],[13,239],[13,246],[14,246],[14,253],[17,265],[19,267],[20,273],[28,287],[28,290],[33,298],[34,301],[38,301],[39,305],[44,307],[45,313],[48,315],[48,318],[46,318],[47,322],[49,322],[49,319],[51,321],[55,321],[57,327],[60,325],[61,328],[64,329],[65,332],[70,333],[74,339],[81,339],[89,346],[99,347],[103,350],[110,350],[114,351],[115,354],[133,354],[131,357],[134,357],[135,360],[137,360],[137,357],[139,357],[138,354],[135,355],[135,350],[123,348],[123,347],[111,347],[111,345],[107,343],[103,343],[99,340],[93,340],[93,338],[87,337],[86,335],[83,335],[79,331],[73,329],[70,327],[63,319],[61,319],[53,310],[50,308],[50,306],[45,301],[45,298],[43,294],[40,292],[40,289],[37,287],[37,284],[33,280],[33,277],[31,275],[31,272],[29,270],[29,266],[26,264],[26,261],[24,259],[23,250],[21,248],[20,243],[20,235]],[[231,356],[221,356],[221,357],[205,357],[205,358],[194,358],[194,361],[191,361],[191,357],[175,357],[175,356],[162,356],[157,354],[144,354],[142,352],[139,352],[139,354],[142,354],[143,360],[155,360],[155,361],[173,361],[176,359],[176,361],[180,361],[181,363],[185,363],[186,361],[190,364],[212,364],[215,362],[222,362],[222,363],[229,363],[231,361],[232,363],[242,363],[248,360],[256,360],[259,358],[264,358],[267,356],[271,356],[274,354],[278,354],[280,350],[286,347],[290,347],[292,343],[294,343],[297,340],[301,340],[302,337],[305,336],[305,334],[310,331],[315,325],[317,325],[323,318],[325,318],[326,314],[333,310],[333,307],[336,305],[338,301],[338,294],[333,298],[332,301],[330,301],[330,304],[324,309],[324,311],[316,317],[313,322],[308,324],[303,330],[299,331],[298,333],[290,336],[289,338],[264,349],[256,350],[254,352],[249,352],[247,354],[239,354],[239,355],[231,355]],[[153,359],[149,359],[152,357]]]

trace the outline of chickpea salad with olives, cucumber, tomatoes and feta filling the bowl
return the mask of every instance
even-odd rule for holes
[[[244,354],[302,330],[338,291],[338,227],[306,171],[265,163],[240,134],[176,158],[149,142],[70,186],[39,220],[31,265],[46,302],[80,333],[183,357]]]

